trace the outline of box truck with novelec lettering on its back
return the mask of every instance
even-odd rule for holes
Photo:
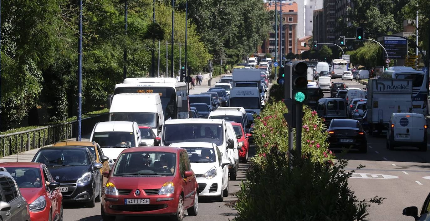
[[[370,133],[386,130],[391,114],[412,111],[412,80],[369,79],[367,93]]]

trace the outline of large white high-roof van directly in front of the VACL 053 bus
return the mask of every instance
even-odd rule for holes
[[[164,124],[160,94],[124,93],[116,94],[109,110],[109,121],[132,121],[139,126],[148,126],[159,136]]]

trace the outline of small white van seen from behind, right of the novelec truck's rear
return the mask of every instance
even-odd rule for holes
[[[427,124],[418,113],[393,113],[387,131],[387,148],[413,146],[427,151]]]

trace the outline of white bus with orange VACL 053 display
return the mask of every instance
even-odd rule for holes
[[[165,121],[169,118],[185,119],[189,116],[187,84],[178,82],[175,78],[127,78],[123,83],[115,85],[113,96],[122,93],[160,94]]]

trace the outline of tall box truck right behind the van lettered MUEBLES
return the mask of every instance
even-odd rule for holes
[[[261,73],[258,69],[234,69],[232,75],[233,88],[255,87],[260,90],[259,93],[264,90],[261,85]]]

